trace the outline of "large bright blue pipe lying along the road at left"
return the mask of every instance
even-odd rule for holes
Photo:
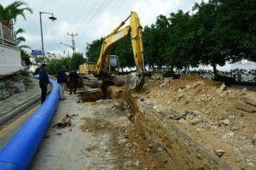
[[[59,103],[60,88],[51,79],[49,83],[52,89],[44,104],[0,151],[1,170],[25,170],[30,167]]]

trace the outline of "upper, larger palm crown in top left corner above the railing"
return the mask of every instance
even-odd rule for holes
[[[27,10],[32,14],[33,10],[29,7],[20,8],[22,5],[27,6],[28,4],[23,1],[15,1],[14,3],[9,4],[6,8],[0,4],[0,23],[2,23],[3,26],[12,28],[12,20],[16,22],[17,16],[21,15],[24,20],[26,20],[26,14],[24,12]]]

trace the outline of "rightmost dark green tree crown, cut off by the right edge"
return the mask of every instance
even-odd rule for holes
[[[224,54],[229,55],[232,62],[241,58],[256,61],[255,1],[215,0],[212,3],[218,4],[216,34]]]

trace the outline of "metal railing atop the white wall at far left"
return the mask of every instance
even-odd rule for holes
[[[0,23],[0,44],[16,47],[16,32]]]

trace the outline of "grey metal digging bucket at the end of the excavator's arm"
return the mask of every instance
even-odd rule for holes
[[[139,72],[132,72],[129,85],[131,89],[142,88],[145,83],[145,77]]]

